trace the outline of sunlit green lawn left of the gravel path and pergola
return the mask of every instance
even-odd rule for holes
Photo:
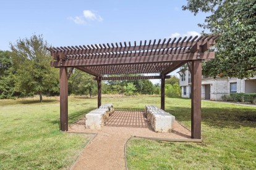
[[[63,169],[90,136],[59,131],[58,98],[0,100],[0,169]],[[69,103],[69,123],[93,108]]]

